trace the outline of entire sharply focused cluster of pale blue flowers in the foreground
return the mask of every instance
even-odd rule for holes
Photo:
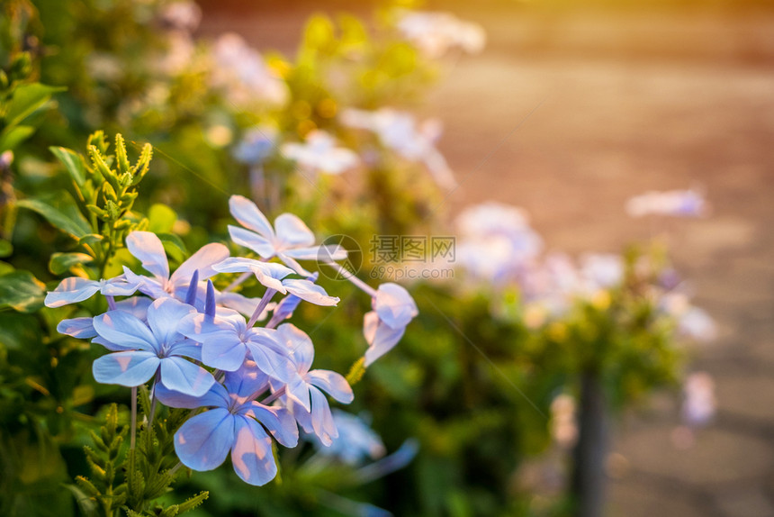
[[[353,400],[344,376],[311,368],[311,338],[284,322],[302,301],[338,304],[298,260],[324,257],[335,264],[346,251],[321,253],[310,229],[291,213],[272,225],[245,197],[232,196],[229,207],[240,223],[229,226],[232,240],[257,258],[230,257],[226,246],[211,243],[171,272],[157,235],[133,231],[126,246],[145,273],[124,267],[119,277],[99,281],[66,278],[46,304],[59,307],[102,294],[107,312],[58,325],[62,333],[109,350],[94,361],[97,382],[136,387],[151,381],[153,404],[194,410],[175,433],[175,452],[186,467],[211,470],[230,452],[238,476],[264,485],[277,472],[273,440],[295,447],[301,426],[329,446],[338,430],[326,395],[341,404]],[[229,286],[215,288],[213,277],[235,273]],[[248,277],[265,288],[260,298],[234,292]],[[374,290],[352,281],[373,298],[365,325],[368,366],[401,339],[417,307],[401,286]],[[285,296],[272,303],[277,294]],[[259,321],[266,323],[256,326]]]

